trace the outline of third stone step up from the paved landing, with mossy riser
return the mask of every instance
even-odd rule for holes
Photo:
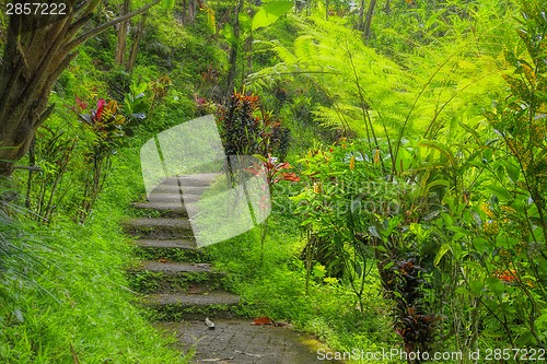
[[[194,239],[138,239],[136,255],[144,260],[207,262],[207,253]]]

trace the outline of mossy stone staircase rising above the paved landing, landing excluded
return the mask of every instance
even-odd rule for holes
[[[125,232],[136,237],[142,258],[129,270],[131,287],[142,294],[142,303],[155,312],[156,320],[230,317],[240,304],[238,296],[224,290],[225,274],[197,247],[186,211],[216,176],[166,179],[147,202],[135,203],[141,216],[123,223]]]

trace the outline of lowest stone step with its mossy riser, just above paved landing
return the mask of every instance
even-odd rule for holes
[[[226,292],[150,294],[143,297],[143,304],[154,309],[156,320],[175,321],[236,316],[240,297]]]

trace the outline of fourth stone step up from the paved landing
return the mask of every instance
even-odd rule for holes
[[[141,238],[191,237],[191,224],[187,218],[135,218],[121,222],[127,234]]]

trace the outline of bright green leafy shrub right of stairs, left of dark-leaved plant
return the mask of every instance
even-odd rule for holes
[[[362,234],[374,213],[389,209],[394,185],[383,183],[379,160],[368,160],[364,143],[341,141],[339,145],[310,151],[300,162],[303,191],[293,197],[295,213],[306,231],[302,253],[306,286],[316,263],[327,278],[347,283],[361,310],[368,274],[374,267],[373,247]]]

